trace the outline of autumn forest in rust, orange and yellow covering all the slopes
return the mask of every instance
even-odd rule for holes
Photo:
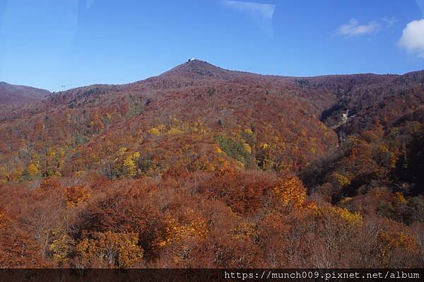
[[[424,71],[13,87],[1,268],[424,265]]]

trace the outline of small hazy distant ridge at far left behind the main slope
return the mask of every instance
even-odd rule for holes
[[[0,82],[0,105],[16,105],[44,98],[49,91]]]

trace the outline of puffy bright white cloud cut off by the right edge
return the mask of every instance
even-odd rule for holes
[[[406,25],[398,42],[399,47],[424,58],[424,18]]]

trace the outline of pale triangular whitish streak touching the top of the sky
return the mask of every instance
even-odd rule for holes
[[[266,35],[273,37],[272,19],[276,5],[230,0],[220,1],[220,3],[225,8],[247,14]]]

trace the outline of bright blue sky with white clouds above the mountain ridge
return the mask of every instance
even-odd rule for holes
[[[129,83],[189,58],[259,74],[424,69],[424,0],[0,0],[0,81]]]

